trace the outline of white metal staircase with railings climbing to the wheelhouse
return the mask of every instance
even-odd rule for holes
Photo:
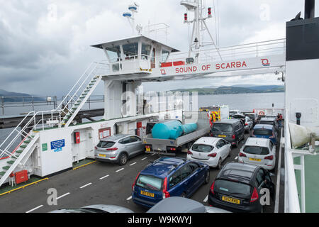
[[[91,63],[57,109],[37,113],[33,111],[23,118],[0,145],[0,187],[16,168],[20,167],[23,170],[28,158],[38,147],[40,138],[38,130],[50,128],[52,124],[59,128],[68,127],[96,89],[101,81],[101,75],[108,72],[109,65],[106,62]],[[69,97],[71,99],[66,101]],[[68,109],[68,106],[72,106],[71,109]],[[44,114],[48,113],[51,117],[44,118]]]

